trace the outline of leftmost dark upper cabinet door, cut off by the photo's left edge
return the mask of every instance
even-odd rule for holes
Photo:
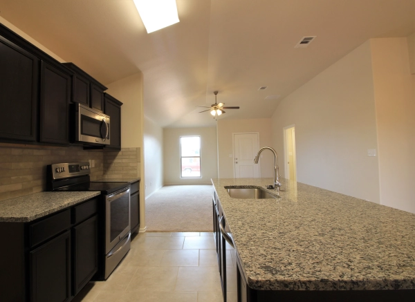
[[[0,37],[0,138],[34,142],[39,59]]]

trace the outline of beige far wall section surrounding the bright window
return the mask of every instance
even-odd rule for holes
[[[201,178],[180,177],[180,137],[200,135]],[[165,185],[211,185],[211,178],[218,176],[216,127],[165,128],[163,131],[163,160]]]

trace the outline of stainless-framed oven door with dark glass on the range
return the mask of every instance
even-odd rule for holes
[[[105,213],[105,254],[130,231],[130,188],[107,195]]]

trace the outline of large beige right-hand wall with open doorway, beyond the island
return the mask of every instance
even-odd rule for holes
[[[282,100],[273,146],[284,154],[283,128],[295,124],[298,182],[379,202],[373,87],[367,41]]]

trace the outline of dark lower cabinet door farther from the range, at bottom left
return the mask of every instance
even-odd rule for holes
[[[30,252],[30,301],[71,300],[71,231]]]

